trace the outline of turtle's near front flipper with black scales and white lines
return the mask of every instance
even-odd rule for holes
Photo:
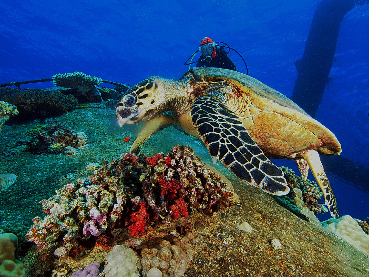
[[[238,117],[211,96],[191,106],[194,128],[208,148],[213,163],[221,161],[239,179],[273,195],[290,191],[284,174],[252,140]]]

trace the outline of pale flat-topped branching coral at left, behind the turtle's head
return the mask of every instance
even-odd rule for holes
[[[61,73],[52,75],[52,83],[55,86],[77,89],[87,93],[90,89],[100,85],[104,80],[96,76],[86,75],[83,72]]]

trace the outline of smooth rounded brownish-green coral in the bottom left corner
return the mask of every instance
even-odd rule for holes
[[[18,252],[17,236],[11,233],[0,235],[0,276],[23,277],[23,264],[15,259]]]

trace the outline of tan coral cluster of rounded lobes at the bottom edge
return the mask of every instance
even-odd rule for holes
[[[190,244],[170,235],[148,240],[136,249],[141,250],[139,261],[143,277],[148,276],[152,268],[159,269],[163,276],[181,276],[193,256]]]

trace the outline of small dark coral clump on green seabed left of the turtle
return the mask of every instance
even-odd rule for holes
[[[27,150],[35,152],[35,154],[59,154],[64,151],[65,155],[73,155],[76,149],[73,150],[72,148],[77,148],[78,144],[82,145],[82,143],[85,143],[82,148],[85,148],[86,145],[88,146],[88,144],[86,144],[87,135],[85,133],[76,134],[74,130],[63,126],[58,121],[54,121],[48,126],[40,128],[41,126],[37,125],[35,131],[33,131],[34,129],[27,131],[30,135],[35,133],[35,135],[27,141]],[[82,143],[80,141],[82,141]],[[66,147],[72,148],[65,149]]]

